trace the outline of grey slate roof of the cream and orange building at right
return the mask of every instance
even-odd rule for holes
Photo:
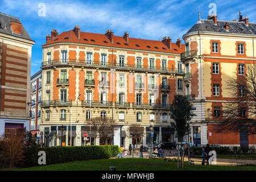
[[[229,31],[226,31],[225,24],[228,23]],[[190,30],[185,34],[191,34],[193,32],[216,32],[226,34],[246,34],[256,35],[256,23],[249,23],[249,26],[242,22],[229,22],[218,20],[217,25],[214,24],[212,19],[199,20]],[[183,35],[183,36],[185,36]]]

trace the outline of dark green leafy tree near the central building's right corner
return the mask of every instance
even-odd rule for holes
[[[177,131],[178,142],[182,142],[182,138],[189,130],[188,121],[191,120],[193,105],[189,102],[187,96],[175,95],[171,105],[171,126]]]

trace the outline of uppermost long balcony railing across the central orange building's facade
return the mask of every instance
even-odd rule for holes
[[[66,61],[61,60],[51,60],[51,61],[43,61],[42,67],[49,67],[53,65],[73,65],[77,67],[95,67],[95,68],[115,68],[115,69],[123,69],[129,71],[143,71],[143,72],[154,72],[154,73],[184,73],[183,69],[175,69],[175,68],[163,68],[163,67],[150,67],[148,65],[136,65],[136,64],[119,64],[119,63],[104,63],[102,65],[101,61],[90,61],[87,63],[86,60],[72,60],[67,59]]]

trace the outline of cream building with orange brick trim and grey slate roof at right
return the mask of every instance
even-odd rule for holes
[[[217,20],[217,15],[200,19],[183,36],[185,52],[185,93],[196,107],[191,121],[191,140],[198,144],[255,146],[255,135],[245,132],[215,133],[222,106],[230,101],[226,81],[230,75],[245,74],[246,64],[255,64],[256,23],[240,14],[232,22]],[[256,116],[255,116],[256,117]]]

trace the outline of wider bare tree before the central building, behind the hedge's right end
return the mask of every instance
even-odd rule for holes
[[[115,125],[115,120],[109,117],[95,117],[89,119],[88,124],[92,126],[95,132],[100,135],[100,137],[108,144],[108,139],[113,139],[114,129],[117,127]]]

